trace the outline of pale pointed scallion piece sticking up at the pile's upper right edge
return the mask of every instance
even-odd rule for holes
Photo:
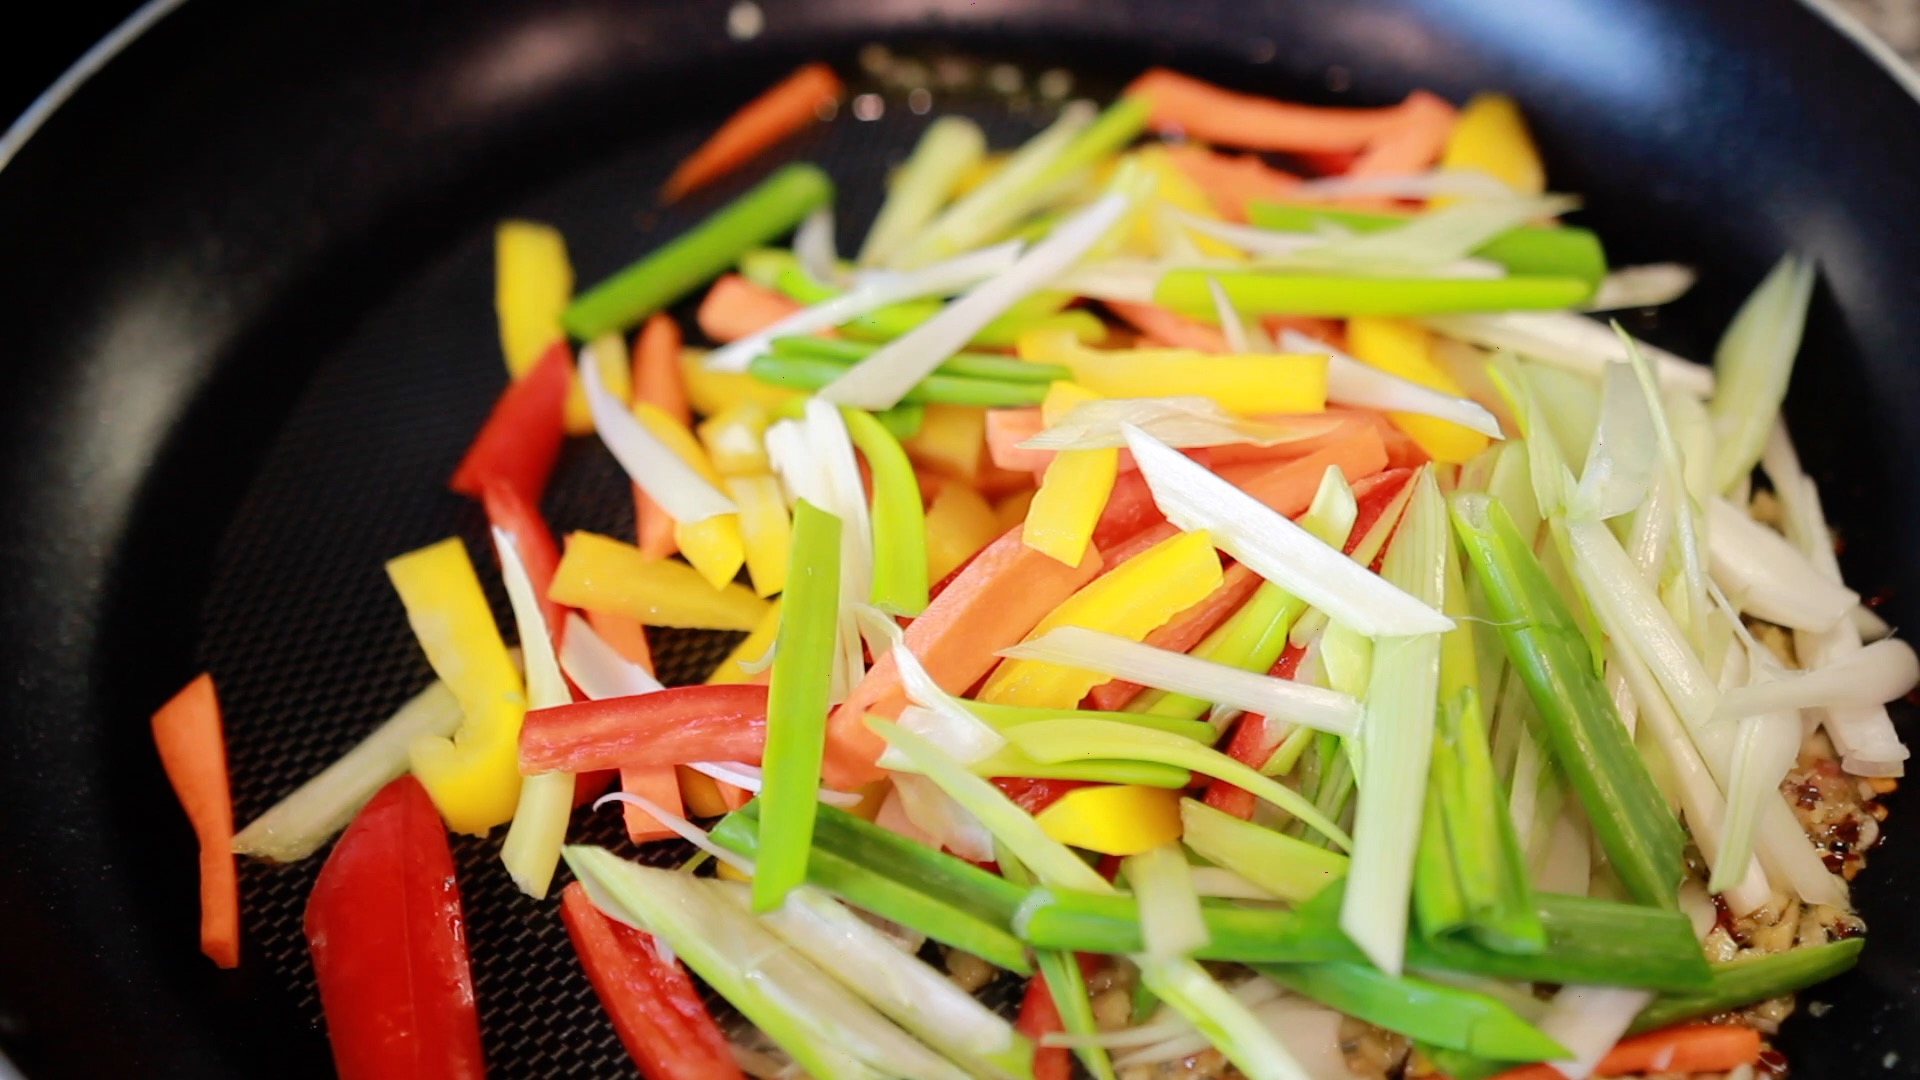
[[[1766,432],[1780,415],[1807,327],[1814,267],[1795,256],[1782,258],[1740,306],[1713,354],[1718,388],[1709,402],[1713,434],[1713,486],[1726,492],[1753,473],[1766,446]]]

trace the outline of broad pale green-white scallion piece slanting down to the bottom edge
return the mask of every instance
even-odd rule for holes
[[[730,896],[743,892],[735,882],[641,867],[601,847],[568,847],[566,863],[601,911],[666,942],[816,1080],[966,1078],[785,947]]]

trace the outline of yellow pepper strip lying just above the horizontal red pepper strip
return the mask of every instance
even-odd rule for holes
[[[547,598],[687,630],[753,630],[766,613],[766,601],[739,582],[714,588],[685,563],[649,559],[639,548],[597,532],[566,536]]]

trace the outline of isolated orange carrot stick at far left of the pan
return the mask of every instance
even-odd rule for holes
[[[154,748],[200,840],[200,951],[221,967],[240,967],[234,801],[211,675],[200,675],[154,713]]]

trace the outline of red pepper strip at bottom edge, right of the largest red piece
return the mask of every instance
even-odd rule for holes
[[[647,1080],[739,1080],[701,992],[680,961],[666,959],[653,934],[614,922],[588,899],[580,882],[561,894],[561,920],[580,967],[612,1019],[620,1045]]]

